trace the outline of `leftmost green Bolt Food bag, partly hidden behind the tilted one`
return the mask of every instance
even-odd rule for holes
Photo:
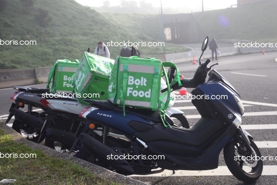
[[[70,93],[73,90],[72,76],[76,72],[80,62],[67,59],[57,60],[49,72],[47,88],[52,80],[50,91],[52,93]]]

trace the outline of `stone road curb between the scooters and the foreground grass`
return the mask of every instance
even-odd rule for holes
[[[60,153],[56,150],[50,149],[49,147],[42,145],[42,144],[37,144],[32,141],[28,141],[21,134],[14,131],[11,127],[7,126],[1,119],[0,119],[0,128],[4,131],[5,134],[9,134],[13,138],[14,142],[27,145],[34,150],[41,150],[41,151],[43,151],[43,153],[45,155],[48,155],[50,157],[55,157],[55,158],[64,159],[64,160],[71,160],[75,164],[88,169],[90,172],[95,174],[95,176],[97,176],[97,177],[105,178],[107,180],[117,182],[120,184],[138,184],[138,185],[148,184],[148,183],[144,183],[142,181],[135,180],[135,179],[132,179],[130,177],[127,177],[127,176],[124,176],[121,174],[114,173],[112,171],[109,171],[107,169],[99,167],[95,164],[89,163],[82,159],[75,158],[71,155]]]

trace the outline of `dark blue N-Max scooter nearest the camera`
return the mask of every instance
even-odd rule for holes
[[[207,44],[208,36],[202,45],[203,52]],[[219,154],[224,149],[227,167],[236,178],[244,182],[258,179],[263,171],[263,161],[258,158],[261,153],[252,136],[240,126],[244,114],[241,97],[220,73],[211,70],[213,65],[207,68],[209,62],[208,59],[201,64],[199,60],[200,66],[194,77],[181,80],[183,87],[194,88],[192,103],[201,115],[191,128],[164,127],[161,122],[157,123],[159,114],[147,110],[129,108],[123,117],[123,110],[117,105],[87,100],[92,106],[80,116],[93,123],[91,133],[101,125],[103,134],[101,137],[80,134],[76,141],[84,150],[81,158],[120,173],[151,174],[164,169],[216,169]],[[209,70],[209,79],[205,83]],[[174,68],[169,69],[168,77],[171,82]],[[177,84],[172,86],[172,90],[176,89],[180,89]],[[228,99],[216,99],[216,96]],[[116,131],[118,138],[111,138],[110,130]],[[149,157],[153,155],[164,156],[164,159]],[[156,168],[162,170],[151,171]]]

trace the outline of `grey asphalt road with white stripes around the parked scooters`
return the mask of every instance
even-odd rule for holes
[[[256,144],[259,144],[258,147],[262,156],[274,157],[277,156],[277,62],[275,58],[277,58],[277,52],[266,53],[266,55],[235,55],[219,58],[219,61],[216,61],[219,65],[213,67],[240,93],[245,106],[242,125],[248,126],[246,131],[253,136]],[[210,65],[216,62],[212,61]],[[197,65],[192,65],[192,62],[177,64],[177,66],[185,78],[193,77],[197,67]],[[35,86],[44,88],[45,84]],[[191,89],[187,90],[190,91]],[[13,92],[14,89],[0,89],[2,100],[0,117],[2,118],[8,114],[12,102],[10,96]],[[189,118],[190,126],[193,126],[199,119],[193,118],[199,115],[196,109],[184,109],[193,107],[191,102],[178,101],[174,107],[181,107],[180,109]],[[197,172],[199,175],[195,175],[191,171],[184,171],[182,175],[164,172],[155,176],[132,176],[132,178],[151,184],[226,184],[226,182],[228,184],[243,184],[228,174],[228,171],[221,170],[226,169],[222,153],[219,157],[219,166],[219,169],[210,173],[199,171]],[[188,175],[190,173],[192,175]],[[264,161],[264,174],[256,181],[256,184],[276,184],[276,180],[277,161]]]

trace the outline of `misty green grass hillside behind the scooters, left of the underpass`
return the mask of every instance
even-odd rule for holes
[[[36,41],[36,45],[0,45],[0,68],[35,68],[52,66],[58,59],[80,60],[88,47],[93,52],[98,41],[155,42],[160,40],[157,15],[136,18],[128,25],[115,22],[74,0],[35,1],[29,14],[23,14],[19,0],[9,0],[0,11],[0,39],[4,41]],[[38,8],[49,11],[52,21],[44,28],[35,21]],[[115,18],[118,17],[114,15]],[[137,22],[137,25],[136,23]],[[151,29],[148,29],[151,28]],[[122,47],[109,47],[115,59]],[[163,47],[139,47],[141,57],[161,54]],[[174,44],[166,44],[166,52],[183,52]]]

